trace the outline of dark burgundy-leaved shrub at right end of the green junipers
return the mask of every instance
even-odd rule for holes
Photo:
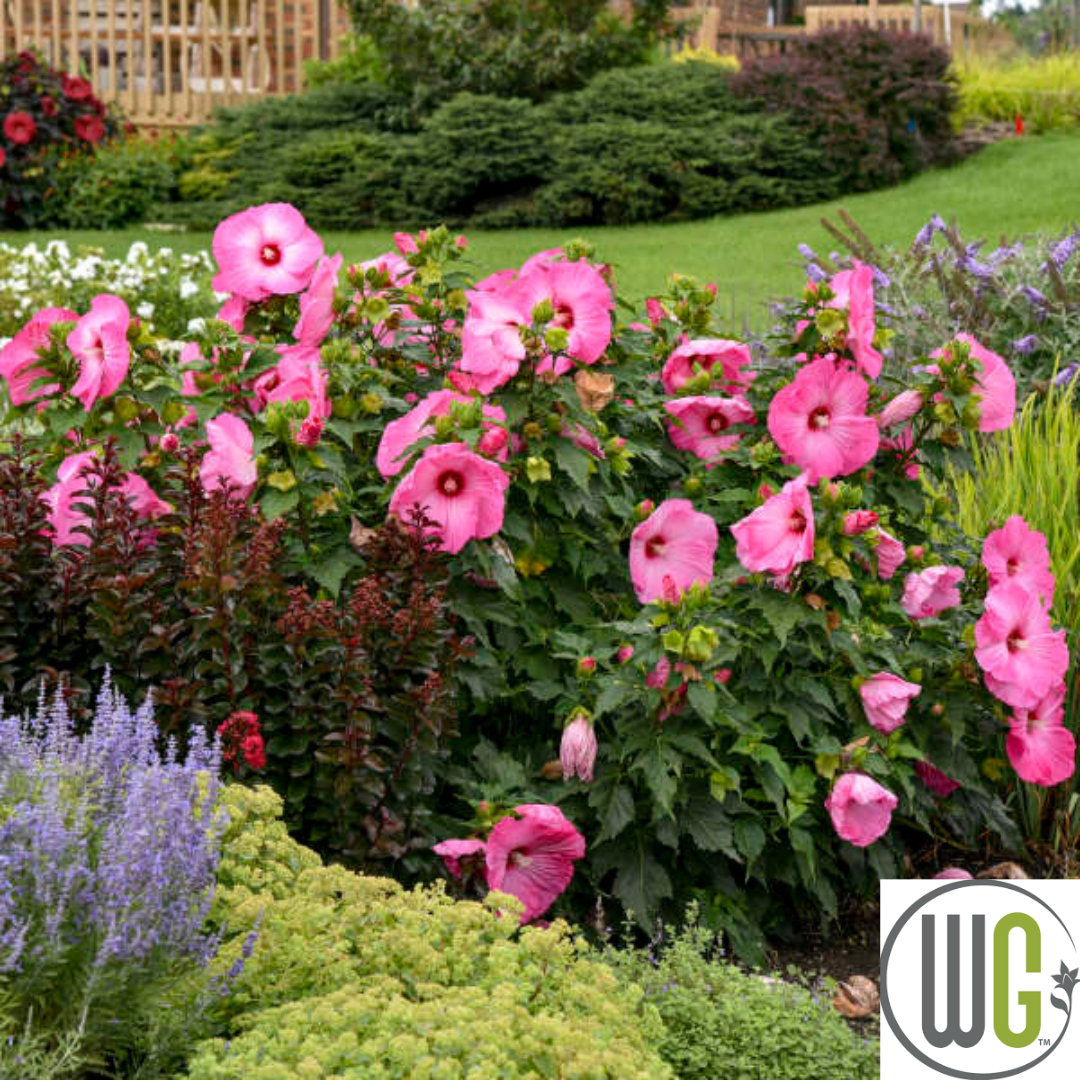
[[[957,160],[948,68],[948,52],[928,38],[859,27],[750,60],[731,87],[770,112],[793,114],[840,189],[868,191]]]

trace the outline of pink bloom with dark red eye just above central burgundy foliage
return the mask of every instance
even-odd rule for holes
[[[464,443],[429,446],[390,499],[390,513],[403,521],[414,505],[434,522],[440,548],[457,554],[470,540],[485,540],[502,528],[510,477],[494,461]]]

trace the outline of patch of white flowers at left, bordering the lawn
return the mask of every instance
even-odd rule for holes
[[[63,240],[44,247],[0,243],[0,346],[35,311],[84,311],[99,293],[121,297],[157,333],[178,337],[192,320],[216,313],[213,270],[207,252],[151,252],[143,241],[122,259],[106,258],[97,248],[72,252]]]

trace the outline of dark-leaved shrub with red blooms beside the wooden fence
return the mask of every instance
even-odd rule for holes
[[[93,153],[119,130],[86,79],[30,52],[0,59],[0,225],[40,224],[65,161]]]

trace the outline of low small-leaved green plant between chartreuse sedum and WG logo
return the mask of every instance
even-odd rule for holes
[[[645,988],[664,1022],[660,1052],[681,1080],[870,1080],[878,1043],[833,1011],[828,995],[747,977],[711,958],[716,941],[689,913],[659,959],[610,949],[620,976]]]

